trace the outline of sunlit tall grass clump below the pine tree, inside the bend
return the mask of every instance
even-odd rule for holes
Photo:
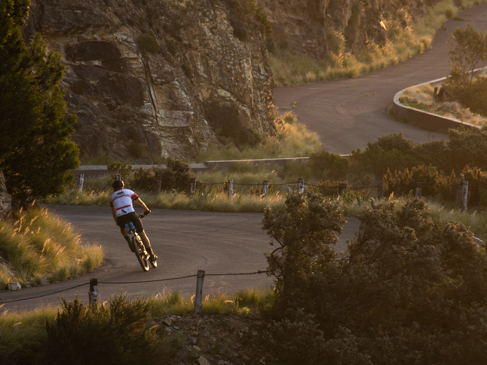
[[[31,207],[15,222],[0,221],[0,287],[55,282],[93,270],[103,260],[100,246],[83,245],[70,223]]]

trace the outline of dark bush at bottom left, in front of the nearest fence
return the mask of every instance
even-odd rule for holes
[[[77,297],[61,300],[54,322],[46,321],[46,364],[134,364],[156,359],[156,334],[150,329],[148,303],[125,295],[109,306],[87,307]]]

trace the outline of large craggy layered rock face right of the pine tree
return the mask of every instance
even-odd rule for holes
[[[157,163],[275,133],[253,11],[231,0],[33,0],[24,35],[63,56],[82,157]]]

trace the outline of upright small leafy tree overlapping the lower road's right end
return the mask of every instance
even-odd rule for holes
[[[269,275],[276,277],[281,309],[300,308],[309,300],[309,277],[332,263],[333,245],[345,220],[334,202],[311,190],[290,193],[283,208],[267,207],[262,229],[277,244],[266,254]]]

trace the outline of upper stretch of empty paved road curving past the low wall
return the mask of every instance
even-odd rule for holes
[[[387,113],[397,91],[447,76],[450,71],[447,39],[467,23],[486,31],[487,4],[463,10],[463,20],[448,20],[433,39],[432,48],[409,60],[353,79],[312,83],[274,90],[281,111],[292,109],[298,121],[320,137],[329,152],[348,154],[389,132],[404,132],[415,143],[448,138],[394,121]]]

